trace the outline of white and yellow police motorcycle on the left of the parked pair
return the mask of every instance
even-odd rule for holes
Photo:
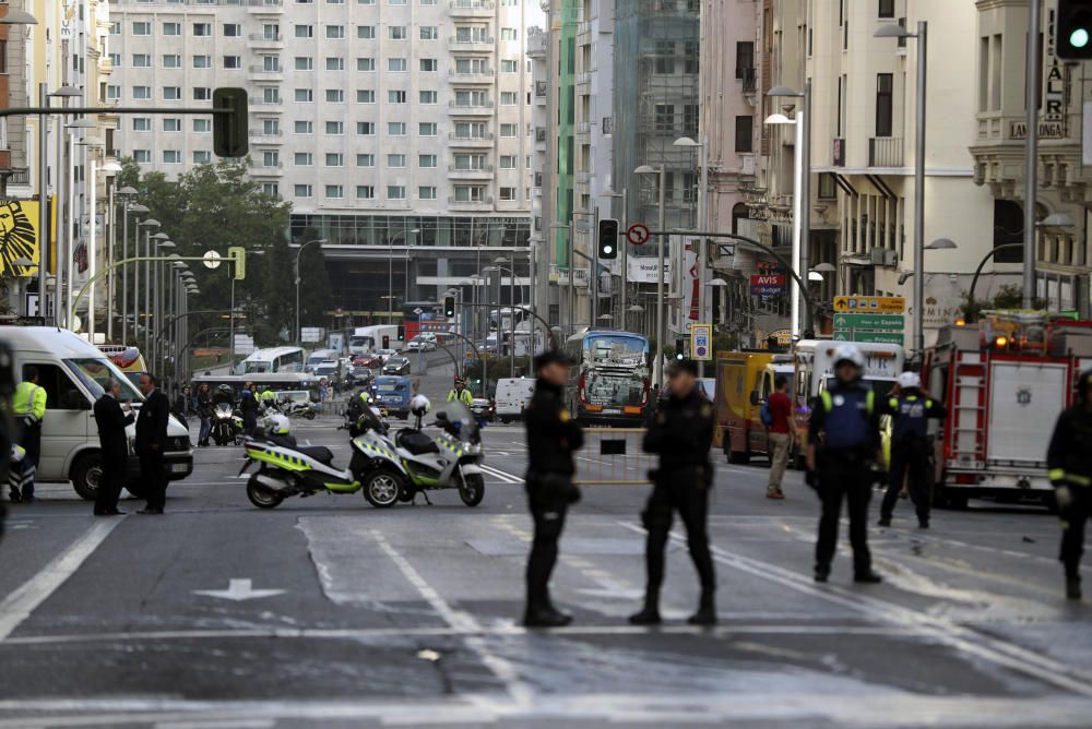
[[[244,444],[247,461],[242,476],[252,465],[258,470],[247,481],[247,498],[259,509],[275,509],[288,497],[316,493],[356,493],[372,506],[392,506],[399,499],[401,477],[390,470],[396,462],[387,426],[371,408],[364,408],[349,430],[353,455],[348,468],[339,468],[333,453],[321,445],[299,445],[292,435],[288,418],[273,414],[262,420],[253,438]]]

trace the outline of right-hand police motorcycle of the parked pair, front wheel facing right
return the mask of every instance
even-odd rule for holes
[[[399,500],[411,502],[420,493],[428,502],[428,491],[458,489],[464,504],[477,506],[485,497],[477,419],[462,403],[444,403],[431,423],[440,429],[440,434],[430,438],[422,432],[422,420],[430,407],[424,395],[410,401],[410,413],[416,422],[394,435],[401,463],[384,464],[392,475],[402,476]]]

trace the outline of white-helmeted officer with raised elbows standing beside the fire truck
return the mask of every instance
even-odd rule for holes
[[[945,406],[922,392],[916,372],[899,375],[899,394],[880,403],[880,414],[891,416],[891,462],[888,490],[880,503],[880,526],[891,526],[902,481],[910,477],[910,498],[917,509],[917,526],[929,528],[929,418],[943,419]]]

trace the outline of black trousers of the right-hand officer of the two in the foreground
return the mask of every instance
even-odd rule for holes
[[[698,571],[702,593],[712,594],[716,589],[713,558],[709,553],[709,486],[703,466],[656,471],[652,495],[641,514],[648,529],[644,566],[649,576],[649,596],[657,597],[664,583],[664,550],[676,511],[686,526],[687,548]]]

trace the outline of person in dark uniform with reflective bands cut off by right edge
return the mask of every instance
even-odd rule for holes
[[[1061,564],[1066,596],[1081,599],[1084,523],[1092,517],[1092,370],[1077,382],[1078,402],[1063,410],[1046,452],[1051,483],[1061,518]]]

